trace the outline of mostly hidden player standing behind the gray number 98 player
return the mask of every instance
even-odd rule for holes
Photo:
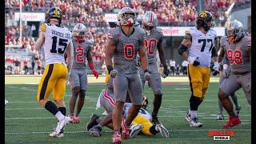
[[[222,51],[222,49],[224,48],[224,46],[226,45],[226,43],[228,42],[228,39],[226,36],[222,37],[220,39],[220,50]],[[219,71],[219,82],[218,84],[221,85],[223,80],[225,78],[228,78],[230,76],[231,73],[231,68],[230,68],[230,62],[229,60],[226,58],[226,54],[224,55],[224,58],[218,58],[218,62],[220,62],[220,65],[222,66],[222,70]],[[235,114],[238,115],[240,110],[241,110],[241,106],[238,105],[238,97],[235,93],[230,94],[230,98],[232,98],[232,101],[234,102],[234,106],[235,106]],[[222,102],[220,101],[220,99],[218,98],[218,108],[219,108],[219,115],[217,116],[217,118],[215,118],[216,120],[224,120],[224,115],[223,115],[223,106],[222,106]]]

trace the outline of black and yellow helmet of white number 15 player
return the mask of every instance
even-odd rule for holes
[[[50,23],[50,19],[57,19],[58,24],[62,23],[62,10],[58,7],[52,7],[46,12],[46,22]]]

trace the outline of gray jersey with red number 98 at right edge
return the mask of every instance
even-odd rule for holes
[[[243,37],[238,43],[227,43],[225,48],[226,57],[230,61],[231,72],[250,71],[250,56],[248,51],[251,49],[250,38]]]

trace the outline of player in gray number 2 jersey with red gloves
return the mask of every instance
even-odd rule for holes
[[[86,26],[78,23],[73,29],[73,46],[74,46],[74,62],[70,74],[70,87],[72,97],[70,98],[70,122],[79,122],[78,115],[82,110],[86,96],[87,74],[86,74],[86,59],[92,74],[98,78],[97,70],[94,70],[94,62],[90,54],[93,47],[92,42],[85,40]],[[74,114],[74,107],[78,99],[78,106]]]

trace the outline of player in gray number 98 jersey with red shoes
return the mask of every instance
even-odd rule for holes
[[[223,128],[231,128],[241,123],[238,115],[234,114],[233,104],[228,97],[242,87],[249,104],[251,104],[251,40],[246,37],[241,22],[234,20],[227,26],[228,42],[219,57],[226,57],[230,61],[231,73],[219,86],[218,98],[230,115],[229,121]]]

